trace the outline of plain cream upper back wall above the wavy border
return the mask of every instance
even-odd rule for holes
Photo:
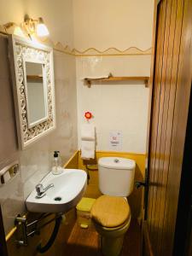
[[[73,0],[75,48],[148,49],[153,9],[154,0]]]

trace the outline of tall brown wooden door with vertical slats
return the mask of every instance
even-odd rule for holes
[[[183,68],[189,62],[190,8],[190,0],[161,0],[157,6],[144,227],[148,254],[155,256],[171,256],[174,243],[191,87]]]

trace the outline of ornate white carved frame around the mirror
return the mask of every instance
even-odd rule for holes
[[[33,44],[26,38],[9,36],[9,55],[14,87],[15,113],[18,140],[21,149],[44,137],[55,129],[55,84],[53,68],[53,49],[44,44]],[[44,92],[42,99],[46,117],[29,124],[26,83],[26,61],[44,65]],[[34,99],[35,101],[35,99]]]

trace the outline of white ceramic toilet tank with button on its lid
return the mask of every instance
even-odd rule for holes
[[[103,195],[128,196],[134,186],[136,162],[121,157],[98,160],[99,189]]]

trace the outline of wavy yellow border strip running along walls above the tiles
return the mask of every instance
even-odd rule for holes
[[[3,34],[11,34],[11,32],[4,29],[3,26],[0,26],[0,32]],[[139,49],[135,46],[130,48],[120,50],[115,47],[110,47],[108,49],[99,50],[94,47],[84,49],[80,51],[79,49],[70,48],[68,45],[61,44],[61,42],[53,42],[50,38],[45,41],[39,40],[43,44],[48,44],[51,46],[55,51],[59,51],[65,53],[67,55],[73,55],[76,57],[88,57],[88,56],[119,56],[119,55],[151,55],[151,48],[149,49]]]

